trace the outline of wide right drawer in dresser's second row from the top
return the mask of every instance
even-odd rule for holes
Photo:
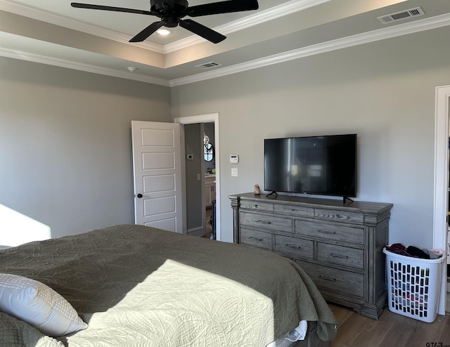
[[[317,221],[295,221],[295,234],[322,237],[326,240],[364,244],[364,228],[353,228]]]

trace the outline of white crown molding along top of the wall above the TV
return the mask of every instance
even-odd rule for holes
[[[450,25],[450,13],[444,15],[437,15],[432,18],[417,20],[405,24],[387,27],[363,34],[356,34],[342,39],[335,39],[332,41],[323,42],[321,44],[314,44],[307,47],[297,48],[292,51],[286,51],[274,55],[269,55],[265,58],[255,59],[246,63],[236,64],[230,67],[221,67],[219,70],[209,72],[202,72],[189,77],[182,77],[179,79],[171,79],[170,86],[181,86],[183,84],[191,84],[198,81],[205,81],[206,79],[214,79],[217,77],[226,76],[229,74],[236,74],[247,70],[257,69],[259,67],[284,63],[289,60],[300,59],[310,55],[336,51],[342,48],[358,46],[360,44],[368,44],[374,41],[381,41],[384,39],[391,39],[406,34],[413,34],[415,32],[423,32],[425,30],[437,29]]]

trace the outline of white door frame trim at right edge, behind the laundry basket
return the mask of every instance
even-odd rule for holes
[[[449,201],[449,117],[450,85],[436,87],[435,108],[435,201],[433,217],[433,248],[447,251],[446,218]],[[446,265],[446,264],[445,264]],[[437,313],[446,310],[446,266],[442,267],[442,284]]]

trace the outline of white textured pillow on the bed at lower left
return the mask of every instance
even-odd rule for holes
[[[49,336],[64,336],[87,327],[75,308],[53,289],[8,273],[0,273],[0,311]]]

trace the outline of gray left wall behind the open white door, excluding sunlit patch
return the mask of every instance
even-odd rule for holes
[[[168,87],[0,58],[0,107],[0,204],[52,237],[134,222],[131,120],[172,122]]]

